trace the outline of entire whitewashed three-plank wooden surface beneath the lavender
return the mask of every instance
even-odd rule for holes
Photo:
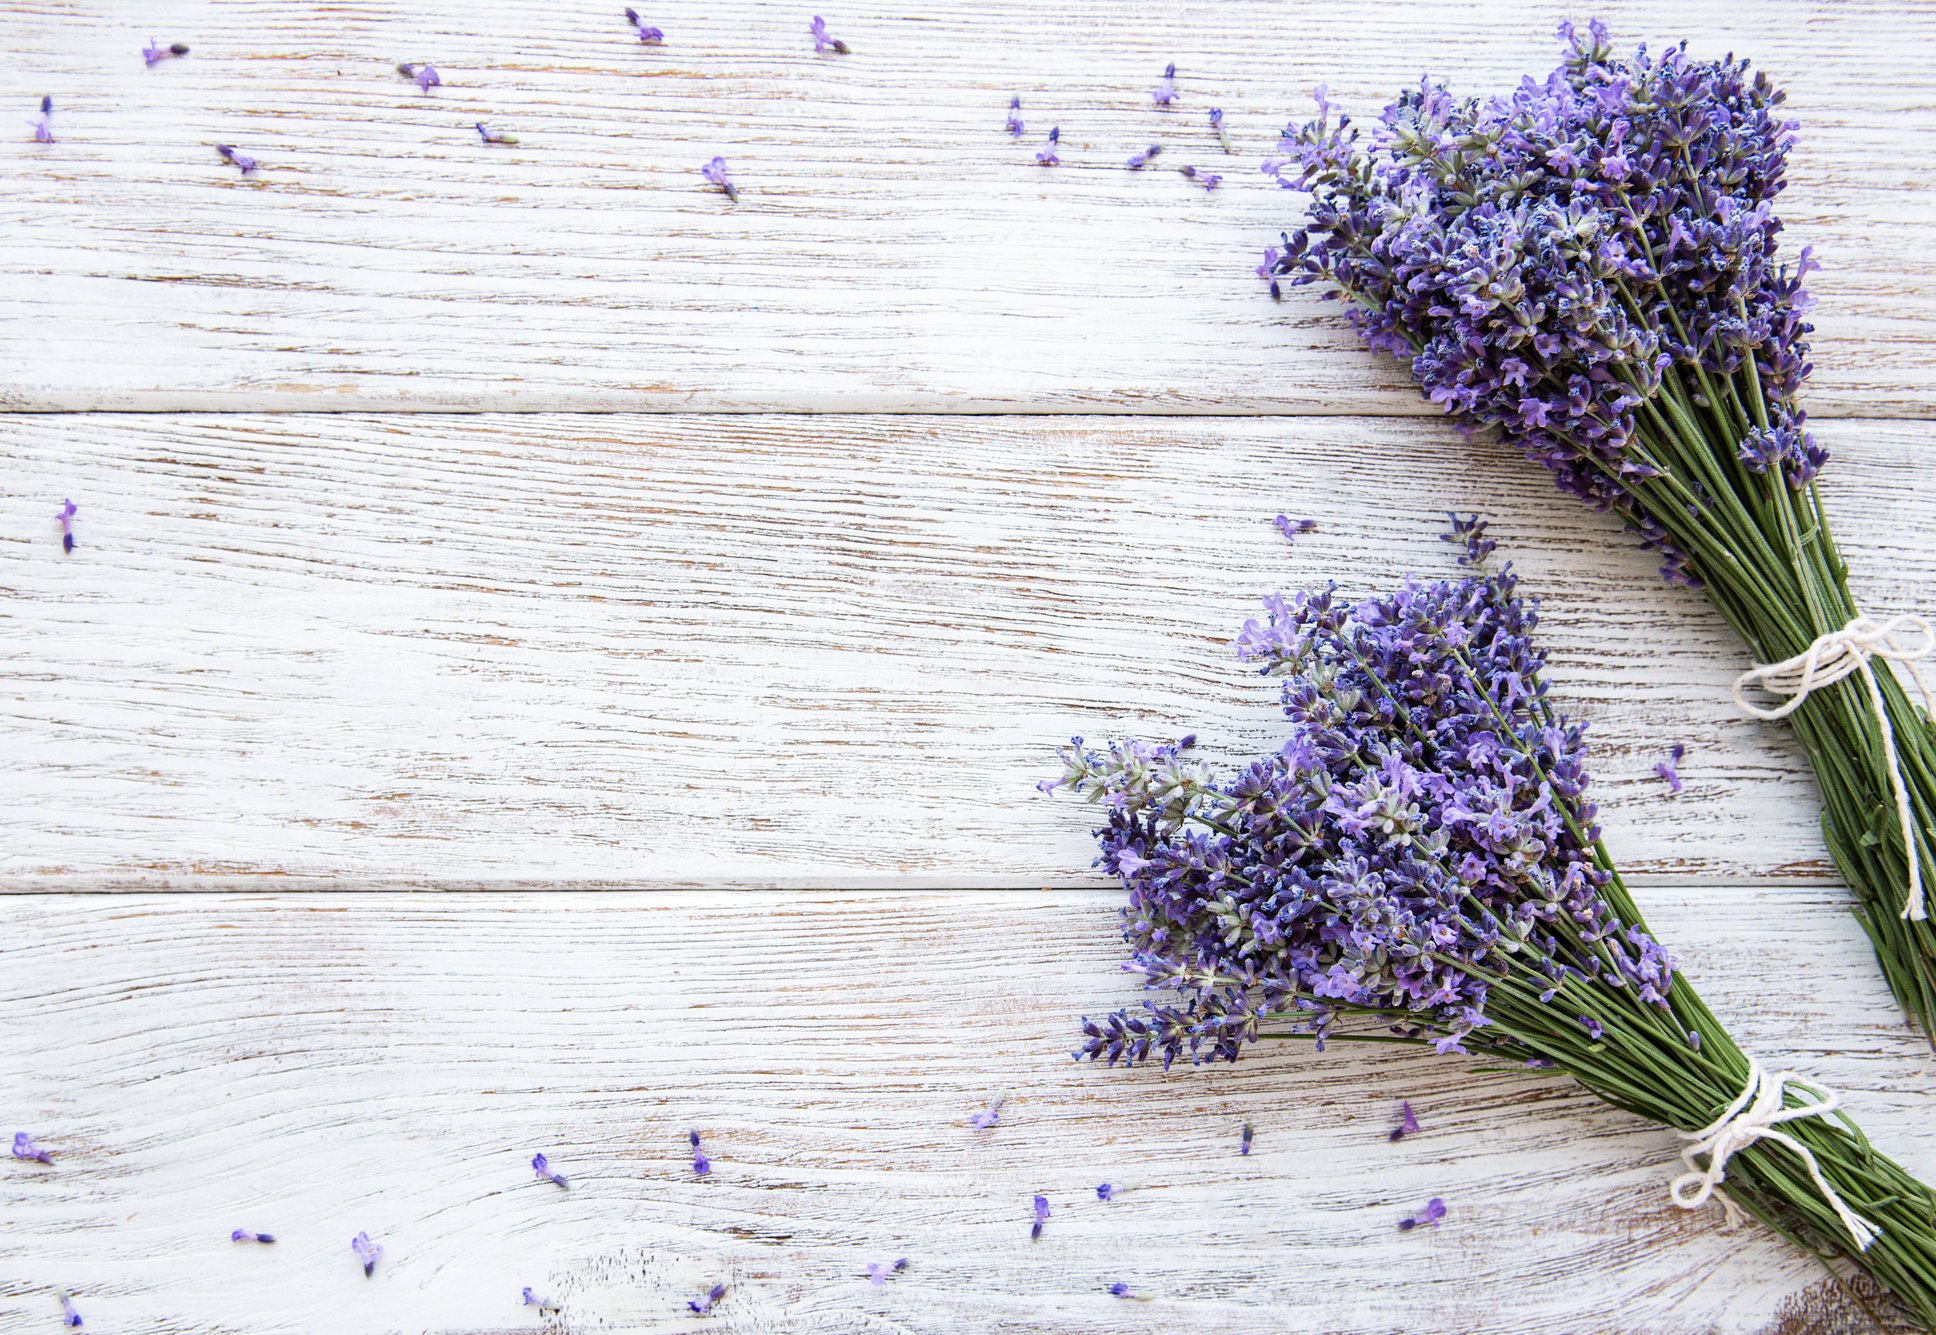
[[[1725,704],[1739,644],[1251,273],[1311,85],[1497,87],[1557,14],[929,0],[817,60],[811,8],[652,12],[656,50],[620,8],[0,14],[0,106],[60,135],[0,143],[0,1132],[56,1155],[0,1163],[0,1327],[72,1289],[99,1331],[538,1329],[529,1283],[569,1331],[1868,1329],[1564,1082],[1067,1060],[1133,993],[1055,743],[1268,745],[1256,598],[1450,569],[1438,511],[1483,509],[1661,934],[1936,1174],[1928,1047],[1799,753]],[[1862,598],[1926,608],[1936,10],[1601,8],[1791,89],[1830,503]],[[1125,170],[1148,141],[1225,188]]]

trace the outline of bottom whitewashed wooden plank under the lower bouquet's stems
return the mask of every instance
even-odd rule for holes
[[[1644,900],[1744,1043],[1936,1174],[1928,1049],[1839,894]],[[530,1329],[532,1285],[571,1331],[1833,1329],[1812,1261],[1677,1211],[1673,1138],[1562,1080],[1349,1045],[1073,1064],[1076,1016],[1134,1000],[1117,902],[0,900],[6,1130],[54,1153],[0,1165],[0,1323],[52,1329],[70,1287],[101,1331]],[[1402,1234],[1429,1196],[1444,1227]]]

